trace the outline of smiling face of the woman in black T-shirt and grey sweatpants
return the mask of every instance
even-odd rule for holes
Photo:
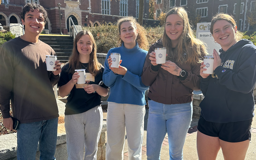
[[[92,40],[89,35],[83,35],[76,43],[77,51],[79,52],[79,56],[90,57],[90,53],[92,52]]]

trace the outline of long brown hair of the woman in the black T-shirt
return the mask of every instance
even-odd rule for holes
[[[96,46],[95,40],[92,36],[92,33],[87,30],[82,30],[76,35],[76,38],[74,40],[73,52],[69,57],[68,73],[74,74],[75,69],[82,68],[82,65],[79,60],[79,52],[77,51],[77,42],[84,35],[89,35],[92,40],[92,52],[90,53],[90,60],[89,60],[87,70],[89,71],[89,73],[92,74],[92,76],[96,76],[101,72],[100,70],[101,64],[98,62],[98,59],[97,59],[97,46]]]

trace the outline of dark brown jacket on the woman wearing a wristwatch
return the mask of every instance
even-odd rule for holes
[[[149,48],[148,55],[143,67],[141,75],[142,83],[150,86],[148,97],[163,104],[181,104],[188,103],[193,100],[193,90],[200,90],[200,63],[196,65],[177,64],[181,69],[188,72],[185,80],[180,80],[178,76],[172,75],[168,71],[159,67],[158,71],[151,69],[151,60],[149,53],[155,51],[155,48],[162,48],[163,43],[158,40]]]

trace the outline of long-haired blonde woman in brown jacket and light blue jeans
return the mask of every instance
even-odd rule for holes
[[[166,48],[165,64],[156,64],[155,48]],[[148,160],[160,159],[166,132],[170,160],[183,159],[183,145],[192,121],[193,90],[200,90],[204,43],[193,36],[187,12],[172,8],[165,17],[163,38],[149,48],[141,76],[148,92]]]

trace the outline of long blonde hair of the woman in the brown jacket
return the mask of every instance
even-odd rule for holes
[[[184,21],[183,32],[179,38],[179,42],[172,51],[171,39],[167,36],[164,26],[164,34],[162,37],[163,45],[167,50],[168,60],[177,62],[179,64],[188,63],[195,65],[196,63],[201,63],[203,56],[207,53],[204,43],[195,38],[193,31],[189,24],[188,14],[182,7],[172,8],[165,16],[165,22],[169,15],[177,14]]]

